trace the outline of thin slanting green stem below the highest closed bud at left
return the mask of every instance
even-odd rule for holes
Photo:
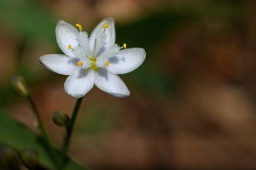
[[[49,152],[49,156],[52,157],[52,161],[55,164],[56,169],[61,170],[61,166],[59,165],[59,161],[57,159],[57,156],[55,155],[55,150],[54,147],[52,147],[52,144],[50,143],[50,139],[47,135],[47,132],[44,128],[44,125],[42,123],[42,120],[40,118],[40,115],[37,111],[37,107],[35,106],[35,103],[33,102],[32,98],[30,96],[27,96],[28,101],[30,102],[30,106],[32,108],[32,110],[35,113],[35,116],[37,116],[37,121],[38,121],[38,127],[40,129],[42,138],[45,140],[45,147],[47,147],[47,152]]]

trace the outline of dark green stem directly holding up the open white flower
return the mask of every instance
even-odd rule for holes
[[[76,116],[78,115],[78,111],[79,108],[81,106],[81,102],[82,102],[83,98],[79,98],[76,101],[76,105],[74,106],[74,111],[73,111],[73,115],[71,118],[71,122],[69,123],[69,125],[67,125],[66,129],[67,129],[67,135],[64,139],[64,144],[62,146],[62,155],[63,155],[63,160],[62,160],[62,166],[64,166],[66,164],[66,154],[67,154],[67,150],[69,149],[69,144],[70,144],[70,140],[71,140],[71,136],[73,133],[73,128],[74,128],[74,122],[76,122]]]

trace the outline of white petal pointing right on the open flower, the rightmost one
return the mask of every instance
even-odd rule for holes
[[[134,71],[143,64],[146,52],[143,48],[127,48],[109,59],[109,66],[106,67],[113,74],[126,74]]]

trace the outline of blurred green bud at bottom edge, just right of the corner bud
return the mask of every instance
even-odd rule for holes
[[[21,161],[29,169],[37,169],[38,154],[34,149],[25,149],[21,152]]]

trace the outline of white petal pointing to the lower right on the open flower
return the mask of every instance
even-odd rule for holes
[[[108,94],[116,97],[125,97],[130,95],[130,91],[122,79],[115,74],[111,74],[105,69],[96,72],[95,85]]]

